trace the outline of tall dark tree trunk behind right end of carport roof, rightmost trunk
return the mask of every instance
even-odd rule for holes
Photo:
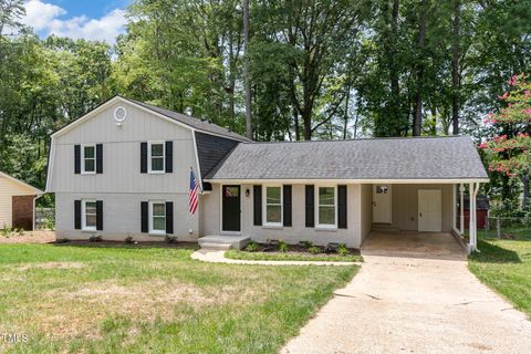
[[[459,134],[459,55],[460,50],[461,0],[454,0],[454,43],[451,49],[451,124],[454,135]]]

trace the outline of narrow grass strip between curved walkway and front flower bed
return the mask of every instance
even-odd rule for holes
[[[280,253],[280,252],[247,252],[238,250],[229,250],[225,257],[230,259],[243,259],[253,261],[334,261],[334,262],[361,262],[362,256],[348,254],[305,254],[305,253]]]

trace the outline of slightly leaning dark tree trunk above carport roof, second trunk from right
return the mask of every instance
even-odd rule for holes
[[[418,70],[417,92],[415,94],[415,115],[413,121],[413,136],[420,136],[423,129],[423,81],[424,81],[424,43],[426,40],[426,18],[428,0],[423,0],[420,9],[420,23],[418,29]]]

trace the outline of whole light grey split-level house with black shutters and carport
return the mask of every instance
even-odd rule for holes
[[[195,215],[190,168],[204,190]],[[485,181],[469,137],[254,143],[114,97],[52,135],[46,191],[58,237],[70,239],[227,235],[360,248],[376,228],[459,232],[454,188]]]

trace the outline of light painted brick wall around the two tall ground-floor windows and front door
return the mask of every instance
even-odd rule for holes
[[[252,185],[241,186],[241,235],[264,242],[267,239],[282,239],[288,243],[311,241],[325,246],[329,242],[344,242],[348,247],[360,248],[362,240],[361,185],[347,187],[347,229],[317,230],[305,227],[304,185],[292,187],[292,227],[268,228],[253,226]],[[246,189],[250,195],[246,197]],[[262,196],[263,197],[263,196]],[[220,186],[214,185],[212,192],[201,196],[201,235],[220,233]]]

